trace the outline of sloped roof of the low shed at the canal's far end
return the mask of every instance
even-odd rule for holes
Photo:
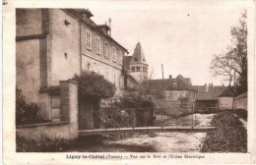
[[[196,85],[195,86],[198,89],[197,92],[197,100],[217,100],[218,96],[224,92],[224,89],[226,89],[226,86],[213,86],[210,85]]]

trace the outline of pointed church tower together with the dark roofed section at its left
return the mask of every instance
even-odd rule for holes
[[[143,52],[140,42],[136,44],[132,56],[124,56],[124,69],[137,83],[142,83],[148,80],[149,64]],[[127,85],[134,85],[131,78],[127,77]]]

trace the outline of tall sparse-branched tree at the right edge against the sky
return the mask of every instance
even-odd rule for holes
[[[224,53],[214,55],[211,70],[214,76],[223,77],[223,81],[231,87],[234,79],[236,93],[247,91],[247,14],[246,10],[239,19],[239,25],[231,27],[231,44],[227,45]]]

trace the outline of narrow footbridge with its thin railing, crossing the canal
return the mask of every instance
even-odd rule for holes
[[[196,113],[174,115],[173,108],[108,109],[100,111],[98,116],[100,120],[95,123],[98,128],[80,130],[79,136],[149,132],[204,133],[216,129],[210,126],[212,118],[205,119],[208,124],[202,125],[204,119],[197,117]]]

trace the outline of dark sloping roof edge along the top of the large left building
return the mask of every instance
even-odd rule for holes
[[[84,19],[82,18],[82,16],[78,12],[76,12],[74,9],[64,9],[64,8],[62,8],[62,10],[67,12],[68,14],[75,15],[75,17],[80,21],[80,23],[84,24],[85,26],[90,27],[97,34],[103,36],[105,39],[108,39],[108,41],[114,42],[116,45],[118,45],[120,48],[122,48],[125,52],[129,53],[129,51],[125,47],[123,47],[120,43],[118,43],[116,40],[114,40],[111,36],[107,36],[107,35],[102,34],[101,32],[99,32],[98,30],[95,29],[96,27],[94,27],[91,24],[85,22]]]

